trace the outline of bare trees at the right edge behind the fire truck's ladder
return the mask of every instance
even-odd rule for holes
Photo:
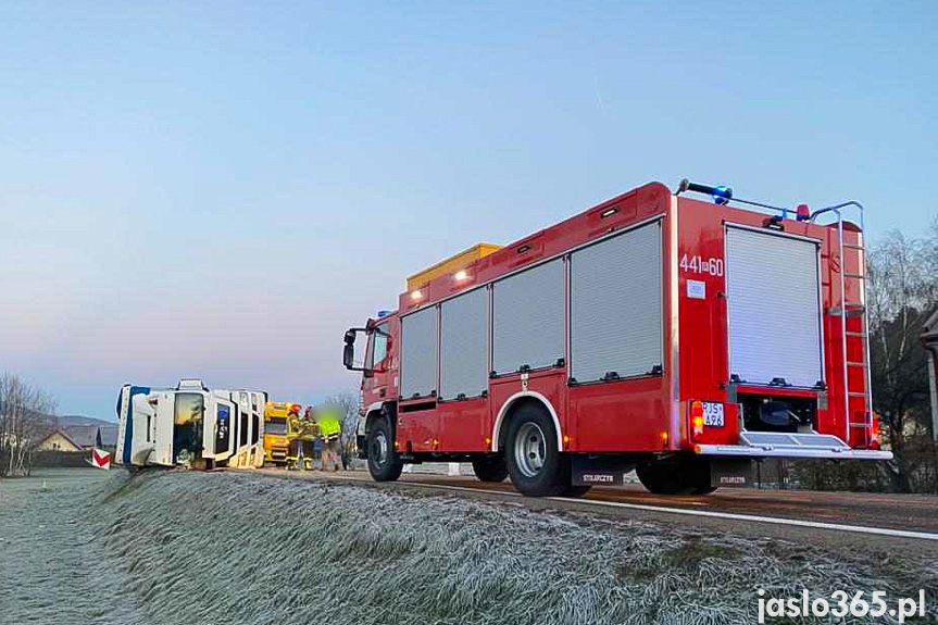
[[[896,490],[909,492],[924,486],[913,484],[920,470],[928,468],[923,463],[935,464],[934,446],[925,443],[927,360],[917,337],[938,305],[938,220],[923,239],[887,234],[871,247],[867,264],[873,404],[895,454],[889,479]]]

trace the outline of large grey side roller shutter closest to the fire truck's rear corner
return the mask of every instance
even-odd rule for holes
[[[571,376],[645,375],[662,363],[661,225],[571,254]]]

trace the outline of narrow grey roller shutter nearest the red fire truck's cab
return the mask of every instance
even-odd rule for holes
[[[437,388],[436,307],[401,317],[401,398],[432,395]]]

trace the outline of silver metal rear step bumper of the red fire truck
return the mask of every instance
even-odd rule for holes
[[[750,458],[833,458],[841,460],[891,460],[891,451],[851,449],[833,434],[740,432],[739,445],[696,445],[700,455]]]

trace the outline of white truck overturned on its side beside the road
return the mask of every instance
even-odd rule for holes
[[[260,390],[210,390],[199,379],[175,388],[125,384],[117,398],[114,462],[142,466],[260,467],[264,405]]]

